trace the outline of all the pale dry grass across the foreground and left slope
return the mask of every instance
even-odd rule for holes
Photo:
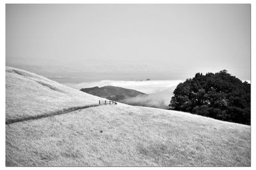
[[[6,120],[99,99],[6,67]],[[180,111],[101,105],[6,124],[6,166],[250,166],[250,129]]]

